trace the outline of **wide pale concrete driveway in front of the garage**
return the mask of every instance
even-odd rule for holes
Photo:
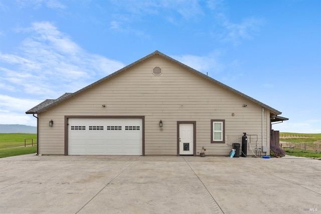
[[[321,213],[307,158],[30,154],[0,169],[0,213]]]

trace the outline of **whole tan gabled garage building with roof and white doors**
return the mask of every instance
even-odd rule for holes
[[[227,155],[243,132],[269,154],[271,122],[287,119],[158,51],[26,113],[38,154],[64,155]]]

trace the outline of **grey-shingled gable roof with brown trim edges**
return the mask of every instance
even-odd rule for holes
[[[98,85],[98,84],[100,84],[100,83],[102,83],[102,82],[114,77],[114,76],[116,76],[117,74],[122,73],[122,72],[130,69],[131,67],[133,67],[133,66],[135,66],[135,65],[137,65],[137,64],[139,64],[139,63],[141,63],[141,62],[143,62],[143,61],[145,61],[145,60],[147,60],[147,59],[149,59],[149,58],[151,58],[151,57],[153,57],[155,55],[156,56],[162,56],[165,59],[167,59],[167,60],[169,60],[169,61],[171,61],[171,62],[173,62],[175,64],[178,64],[179,66],[182,66],[183,68],[185,68],[185,69],[187,69],[187,70],[189,70],[189,71],[191,71],[191,72],[193,72],[193,73],[195,73],[195,74],[197,74],[197,75],[199,75],[199,76],[201,76],[201,77],[203,77],[203,78],[205,78],[205,79],[207,79],[207,80],[209,80],[209,81],[211,81],[211,82],[213,82],[213,83],[215,83],[215,84],[217,84],[217,85],[219,85],[219,86],[221,86],[221,87],[223,87],[225,89],[228,89],[228,90],[230,90],[230,91],[232,91],[232,92],[234,92],[234,93],[236,93],[236,94],[238,94],[238,95],[240,95],[240,96],[242,96],[242,97],[244,97],[244,98],[246,98],[246,99],[248,99],[250,101],[253,101],[254,103],[257,103],[258,105],[261,105],[262,107],[270,110],[272,112],[272,114],[278,115],[278,114],[282,113],[282,112],[280,112],[280,111],[278,111],[278,110],[276,110],[276,109],[274,109],[274,108],[272,108],[272,107],[270,107],[268,105],[265,105],[264,103],[254,99],[252,97],[249,97],[249,96],[247,96],[247,95],[245,95],[245,94],[243,94],[243,93],[241,93],[241,92],[239,92],[239,91],[237,91],[237,90],[235,90],[235,89],[233,89],[233,88],[231,88],[231,87],[229,87],[229,86],[227,86],[227,85],[225,85],[225,84],[223,84],[223,83],[221,83],[221,82],[219,82],[219,81],[217,81],[217,80],[215,80],[215,79],[213,79],[213,78],[211,78],[211,77],[209,77],[209,76],[207,76],[207,75],[205,75],[205,74],[203,74],[203,73],[201,73],[201,72],[199,72],[199,71],[197,71],[197,70],[195,70],[195,69],[193,69],[193,68],[191,68],[191,67],[189,67],[189,66],[187,66],[187,65],[185,65],[185,64],[183,64],[183,63],[181,63],[181,62],[179,62],[179,61],[177,61],[177,60],[175,60],[175,59],[173,59],[173,58],[171,58],[171,57],[169,57],[167,55],[165,55],[165,54],[163,54],[163,53],[161,53],[161,52],[159,52],[159,51],[154,51],[153,53],[141,58],[140,60],[137,60],[136,62],[133,62],[130,65],[128,65],[128,66],[126,66],[126,67],[124,67],[124,68],[122,68],[122,69],[120,69],[120,70],[118,70],[118,71],[116,71],[116,72],[114,72],[114,73],[112,73],[112,74],[110,74],[110,75],[108,75],[108,76],[106,76],[106,77],[104,77],[104,78],[102,78],[102,79],[100,79],[100,80],[98,80],[98,81],[96,81],[96,82],[94,82],[94,83],[92,83],[92,84],[90,84],[90,85],[88,85],[88,86],[86,86],[86,87],[74,92],[74,93],[65,93],[64,95],[60,96],[59,98],[57,98],[55,100],[45,100],[44,102],[40,103],[39,105],[37,105],[37,106],[33,107],[32,109],[28,110],[26,112],[26,114],[38,114],[38,113],[41,113],[43,111],[46,111],[47,109],[49,109],[49,108],[51,108],[53,106],[56,106],[59,103],[65,101],[65,100],[68,100],[68,99],[70,99],[70,98],[72,98],[72,97],[74,97],[74,96],[76,96],[76,95],[78,95],[78,94],[80,94],[80,93],[82,93],[82,92],[84,92],[84,91],[86,91],[86,90],[88,90],[88,89],[90,89],[90,88],[92,88],[92,87],[94,87],[94,86],[96,86],[96,85]]]

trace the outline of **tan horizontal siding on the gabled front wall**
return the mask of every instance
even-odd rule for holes
[[[160,76],[152,74],[156,66],[162,68]],[[204,146],[207,155],[228,155],[231,139],[239,136],[240,140],[243,132],[257,134],[258,145],[262,144],[261,106],[161,56],[153,56],[40,113],[40,153],[64,154],[65,115],[145,116],[145,155],[177,154],[177,121],[196,121],[197,151]],[[51,119],[53,127],[48,126]],[[225,119],[224,144],[211,143],[211,119]],[[162,128],[159,120],[163,121]],[[268,111],[264,121],[266,146]]]

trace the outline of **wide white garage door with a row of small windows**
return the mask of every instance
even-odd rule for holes
[[[69,118],[68,154],[142,155],[142,119]]]

